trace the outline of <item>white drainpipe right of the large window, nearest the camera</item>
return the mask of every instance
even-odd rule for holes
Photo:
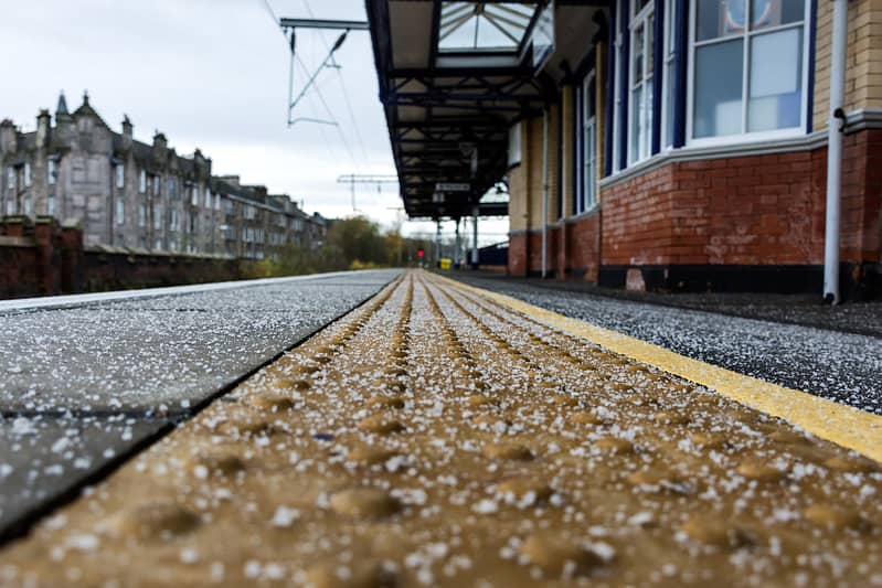
[[[833,36],[830,55],[830,118],[827,121],[827,221],[823,242],[823,299],[839,303],[839,211],[842,181],[842,131],[846,94],[846,41],[848,0],[833,0]]]

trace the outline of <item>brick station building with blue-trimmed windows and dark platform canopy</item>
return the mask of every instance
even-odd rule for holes
[[[466,217],[503,179],[512,276],[820,292],[832,4],[368,0],[405,206]],[[882,0],[846,46],[853,296],[882,289]]]

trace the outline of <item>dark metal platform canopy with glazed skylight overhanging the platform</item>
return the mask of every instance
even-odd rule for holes
[[[597,26],[592,18],[604,4],[366,0],[380,98],[410,217],[472,214],[506,174],[509,129],[555,100],[565,55],[587,53]],[[574,36],[561,36],[567,31],[581,40],[575,51],[561,44]]]

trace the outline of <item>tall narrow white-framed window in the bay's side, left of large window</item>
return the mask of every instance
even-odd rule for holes
[[[653,8],[651,1],[638,0],[630,23],[628,161],[631,163],[648,158],[652,142]]]

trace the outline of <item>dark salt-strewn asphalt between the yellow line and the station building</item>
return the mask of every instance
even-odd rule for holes
[[[449,274],[688,357],[882,415],[882,339],[831,329],[620,300],[523,281]]]

